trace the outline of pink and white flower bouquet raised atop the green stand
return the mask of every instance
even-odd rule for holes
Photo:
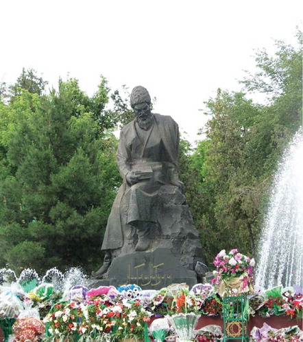
[[[239,253],[237,249],[231,250],[228,254],[226,250],[221,250],[213,263],[217,267],[214,271],[213,285],[221,297],[254,291],[254,259]]]

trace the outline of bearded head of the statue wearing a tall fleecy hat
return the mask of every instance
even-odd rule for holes
[[[151,114],[149,92],[142,86],[135,87],[130,94],[130,105],[139,120],[146,120]]]

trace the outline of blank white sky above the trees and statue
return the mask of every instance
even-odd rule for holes
[[[144,86],[195,142],[204,103],[241,90],[256,50],[295,44],[302,14],[302,0],[2,0],[0,81],[24,67],[49,86],[74,77],[89,95],[101,75],[112,90]]]

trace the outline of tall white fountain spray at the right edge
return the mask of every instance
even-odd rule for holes
[[[303,287],[302,127],[285,151],[274,179],[259,244],[256,286]]]

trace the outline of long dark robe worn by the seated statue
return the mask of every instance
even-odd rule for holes
[[[123,184],[112,205],[102,250],[122,248],[131,222],[156,222],[158,190],[178,180],[178,124],[170,116],[152,115],[154,123],[147,131],[140,129],[136,120],[121,130],[117,164]],[[143,176],[132,186],[126,180],[130,170],[140,170]]]

